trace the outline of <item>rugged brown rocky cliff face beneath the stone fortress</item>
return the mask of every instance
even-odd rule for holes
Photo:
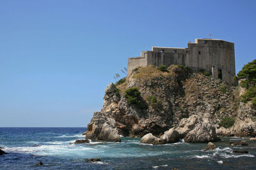
[[[124,92],[131,87],[140,91],[140,106],[127,103]],[[121,85],[108,85],[102,110],[94,113],[86,138],[120,141],[119,135],[142,137],[148,133],[160,137],[178,127],[182,118],[192,115],[207,118],[218,134],[255,136],[255,122],[251,118],[256,116],[256,111],[250,103],[239,103],[240,91],[203,73],[190,73],[187,67],[170,66],[164,72],[154,66],[141,67]],[[248,118],[251,125],[245,125],[244,132],[237,132],[234,127],[227,131],[218,125],[225,116],[236,117],[235,126],[249,121]]]

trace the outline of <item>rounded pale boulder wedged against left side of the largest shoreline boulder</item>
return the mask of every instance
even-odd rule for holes
[[[169,129],[165,131],[164,134],[160,137],[160,143],[176,143],[180,139],[180,134],[175,129]]]

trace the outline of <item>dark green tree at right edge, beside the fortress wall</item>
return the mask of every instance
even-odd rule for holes
[[[256,85],[256,59],[244,65],[237,74],[237,79],[241,80],[241,86],[248,89]]]

